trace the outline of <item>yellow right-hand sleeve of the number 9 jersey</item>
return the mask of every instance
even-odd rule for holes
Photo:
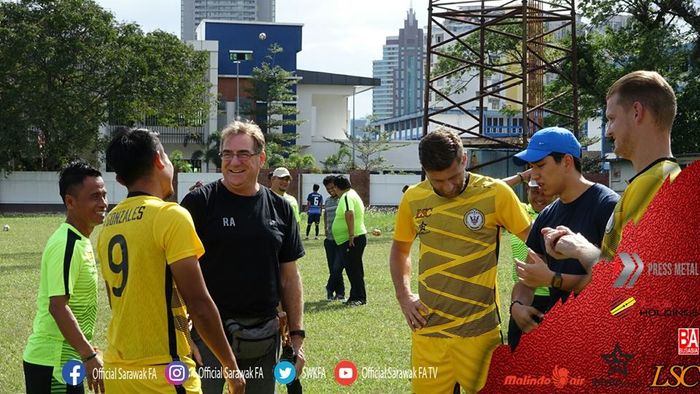
[[[192,223],[189,211],[177,204],[167,204],[158,212],[153,226],[156,242],[165,250],[168,264],[186,257],[200,258],[204,245]]]

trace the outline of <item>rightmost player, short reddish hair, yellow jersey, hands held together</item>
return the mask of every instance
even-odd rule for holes
[[[567,227],[543,230],[548,253],[554,249],[560,256],[588,265],[600,257],[615,257],[625,225],[639,222],[661,185],[667,179],[673,181],[681,171],[671,153],[676,95],[661,75],[634,71],[615,81],[608,89],[605,116],[606,136],[614,142],[615,154],[630,160],[637,175],[628,181],[615,206],[601,249]]]

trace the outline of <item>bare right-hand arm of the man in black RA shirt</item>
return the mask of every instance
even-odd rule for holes
[[[280,282],[282,287],[282,308],[289,319],[289,331],[303,330],[304,289],[296,261],[280,264]],[[301,376],[306,362],[303,348],[304,338],[299,335],[290,335],[290,339],[297,355],[295,364],[297,376]]]

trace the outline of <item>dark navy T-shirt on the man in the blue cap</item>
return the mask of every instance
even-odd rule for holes
[[[530,235],[527,237],[527,246],[534,252],[543,255],[552,271],[562,274],[584,275],[586,270],[578,260],[557,260],[546,254],[544,237],[540,230],[545,227],[566,226],[575,233],[581,233],[589,242],[600,247],[603,235],[605,235],[605,226],[619,199],[620,196],[617,193],[598,183],[593,184],[576,200],[568,204],[557,199],[543,209],[535,219]],[[551,287],[549,294],[550,306],[560,298],[562,301],[566,301],[569,296],[569,292]]]

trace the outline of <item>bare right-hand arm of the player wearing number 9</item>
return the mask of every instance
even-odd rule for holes
[[[244,392],[245,379],[243,374],[238,373],[236,358],[224,334],[219,311],[204,284],[197,258],[190,256],[178,260],[170,264],[170,269],[197,332],[221,362],[221,365],[231,371],[226,373],[229,391],[233,393]]]

